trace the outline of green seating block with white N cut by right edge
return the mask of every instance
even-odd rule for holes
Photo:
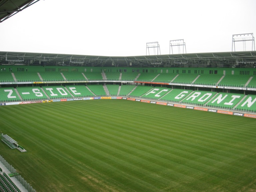
[[[235,108],[241,111],[256,112],[256,95],[247,95],[246,98]]]

